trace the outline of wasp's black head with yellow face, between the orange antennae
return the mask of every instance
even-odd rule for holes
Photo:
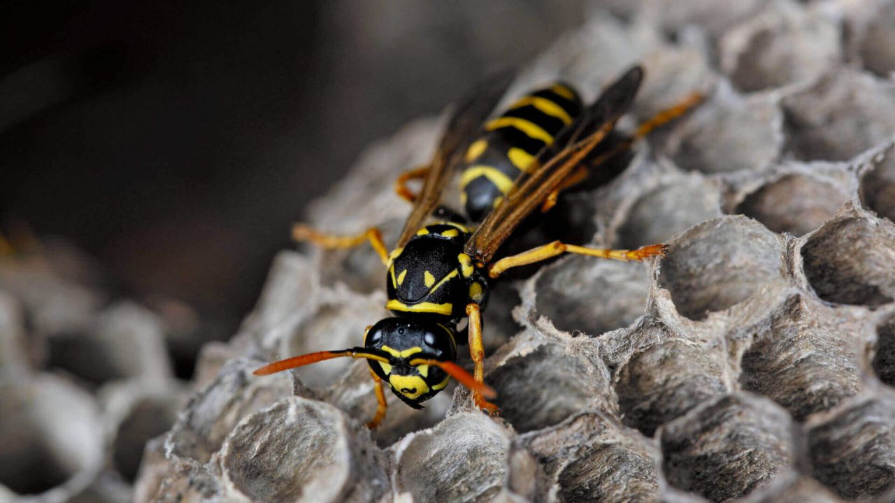
[[[450,379],[445,371],[423,361],[456,359],[454,331],[434,320],[380,320],[367,331],[364,345],[388,354],[388,363],[371,360],[370,368],[401,400],[415,408],[438,394]]]

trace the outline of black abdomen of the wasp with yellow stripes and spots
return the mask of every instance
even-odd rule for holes
[[[516,101],[484,126],[482,136],[465,153],[460,178],[466,214],[481,222],[500,204],[519,175],[553,142],[558,132],[581,113],[581,98],[571,87],[557,83]]]

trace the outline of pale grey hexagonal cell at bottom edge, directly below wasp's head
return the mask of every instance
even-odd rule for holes
[[[509,433],[482,413],[459,413],[394,448],[392,487],[414,501],[490,501],[513,478]],[[534,473],[527,474],[530,479]],[[531,495],[523,495],[531,497]]]

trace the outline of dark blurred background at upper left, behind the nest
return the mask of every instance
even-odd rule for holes
[[[582,3],[4,3],[0,227],[62,236],[117,292],[230,337],[365,144],[537,55]]]

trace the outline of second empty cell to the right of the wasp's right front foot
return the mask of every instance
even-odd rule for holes
[[[683,340],[661,342],[633,354],[616,373],[623,421],[652,437],[661,424],[727,393],[717,361],[718,354]]]

